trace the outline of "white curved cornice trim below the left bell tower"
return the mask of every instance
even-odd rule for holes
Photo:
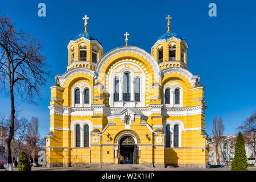
[[[63,86],[65,84],[65,81],[67,81],[69,77],[77,73],[85,73],[87,75],[94,77],[94,72],[92,70],[84,67],[79,67],[79,68],[69,69],[69,71],[65,72],[63,75],[57,75],[55,76],[55,78],[56,77],[59,78],[60,84]]]

